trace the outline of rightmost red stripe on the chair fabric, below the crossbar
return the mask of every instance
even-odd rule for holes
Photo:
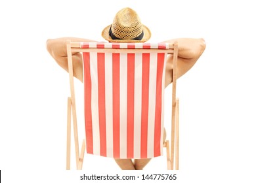
[[[154,135],[154,156],[161,156],[161,90],[163,78],[163,63],[165,54],[158,54],[158,66],[156,73],[156,113],[155,113],[155,135]]]

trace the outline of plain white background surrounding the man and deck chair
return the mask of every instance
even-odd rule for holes
[[[207,45],[196,65],[178,80],[181,171],[176,173],[179,182],[255,182],[253,1],[200,0],[1,1],[3,182],[81,182],[79,175],[83,173],[135,174],[119,171],[113,159],[87,154],[83,171],[65,171],[69,80],[45,46],[47,39],[57,37],[104,41],[102,29],[112,24],[116,12],[124,7],[136,10],[142,23],[150,28],[150,42],[203,37]],[[75,84],[81,87],[77,80]],[[168,87],[165,91],[167,127],[170,95]],[[82,138],[83,116],[78,118]],[[153,159],[143,173],[170,173],[165,171],[165,157]]]

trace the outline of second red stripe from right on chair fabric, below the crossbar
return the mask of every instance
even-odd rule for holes
[[[147,158],[148,147],[148,89],[150,76],[150,54],[142,54],[142,107],[140,157]]]

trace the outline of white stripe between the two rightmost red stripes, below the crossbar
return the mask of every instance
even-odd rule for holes
[[[156,112],[156,73],[158,54],[150,54],[150,80],[148,93],[148,157],[154,157],[154,126]]]

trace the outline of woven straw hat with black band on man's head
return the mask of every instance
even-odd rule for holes
[[[113,24],[105,27],[101,35],[110,42],[145,42],[150,39],[151,32],[141,24],[135,10],[123,8],[117,12]]]

